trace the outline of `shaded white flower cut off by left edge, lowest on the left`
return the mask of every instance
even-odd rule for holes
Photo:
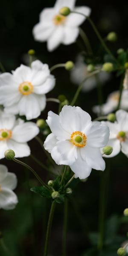
[[[18,200],[13,190],[16,186],[16,175],[8,172],[7,167],[0,164],[0,209],[12,210],[15,208]]]

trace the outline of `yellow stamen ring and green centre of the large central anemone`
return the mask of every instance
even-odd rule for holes
[[[87,137],[81,131],[74,131],[71,134],[70,142],[72,142],[76,147],[83,148],[86,145]]]

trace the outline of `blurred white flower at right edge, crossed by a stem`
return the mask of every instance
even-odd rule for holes
[[[113,93],[110,93],[106,103],[102,105],[102,114],[106,115],[108,113],[115,111],[118,106],[118,102],[119,102],[119,91],[114,91]],[[124,110],[128,110],[128,90],[122,91],[120,108]],[[99,105],[94,106],[93,112],[96,114],[99,114],[100,106]]]

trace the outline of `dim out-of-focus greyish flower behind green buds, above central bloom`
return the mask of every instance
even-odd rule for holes
[[[74,84],[79,85],[85,79],[85,77],[89,74],[89,72],[87,71],[87,67],[88,66],[87,64],[84,63],[83,57],[79,55],[76,59],[75,67],[71,71],[71,81]],[[98,66],[98,68],[101,68],[101,67]],[[98,79],[102,84],[110,78],[110,74],[104,71],[101,71],[96,76],[98,76]],[[84,82],[83,87],[81,89],[83,92],[90,91],[96,87],[96,84],[97,84],[96,76],[92,76]]]

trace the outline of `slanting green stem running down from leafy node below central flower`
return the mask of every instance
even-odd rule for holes
[[[52,227],[52,220],[54,216],[54,211],[55,211],[55,201],[52,201],[50,213],[49,213],[49,220],[47,224],[47,233],[46,233],[46,239],[45,239],[45,246],[44,246],[44,256],[47,256],[48,254],[48,247],[49,247],[49,239],[50,239],[50,234],[51,234],[51,227]]]

